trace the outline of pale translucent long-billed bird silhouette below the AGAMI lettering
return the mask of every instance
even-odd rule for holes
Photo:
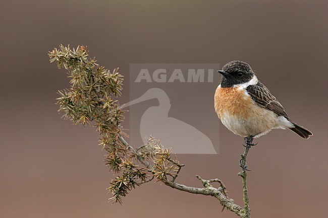
[[[217,154],[204,133],[182,120],[169,117],[170,98],[162,89],[148,89],[139,98],[122,105],[122,108],[150,99],[157,99],[159,105],[149,107],[141,117],[140,136],[144,143],[147,142],[145,136],[152,135],[176,154]]]

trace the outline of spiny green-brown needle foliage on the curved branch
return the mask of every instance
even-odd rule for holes
[[[118,97],[123,89],[123,76],[115,68],[113,72],[88,58],[84,46],[71,49],[60,45],[49,52],[50,62],[57,62],[59,68],[68,70],[71,79],[69,89],[60,90],[57,104],[65,119],[75,124],[93,122],[100,134],[100,145],[107,152],[105,164],[117,174],[110,182],[114,202],[122,203],[122,197],[136,186],[151,181],[174,181],[183,165],[171,158],[171,150],[163,149],[152,137],[138,149],[130,147],[122,131],[124,110],[119,106]],[[137,165],[146,163],[146,168]],[[149,163],[150,162],[150,163]]]

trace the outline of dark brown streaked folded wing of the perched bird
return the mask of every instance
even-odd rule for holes
[[[283,106],[273,96],[270,91],[260,82],[246,88],[247,93],[261,107],[274,111],[276,114],[288,118]]]

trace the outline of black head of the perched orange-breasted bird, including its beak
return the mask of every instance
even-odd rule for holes
[[[233,60],[218,70],[223,75],[221,87],[227,88],[234,85],[247,83],[254,76],[254,72],[248,63],[240,60]]]

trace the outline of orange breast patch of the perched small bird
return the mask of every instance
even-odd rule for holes
[[[252,99],[245,94],[244,89],[217,87],[215,91],[214,107],[220,119],[225,113],[247,119],[252,111],[251,106],[254,106]]]

